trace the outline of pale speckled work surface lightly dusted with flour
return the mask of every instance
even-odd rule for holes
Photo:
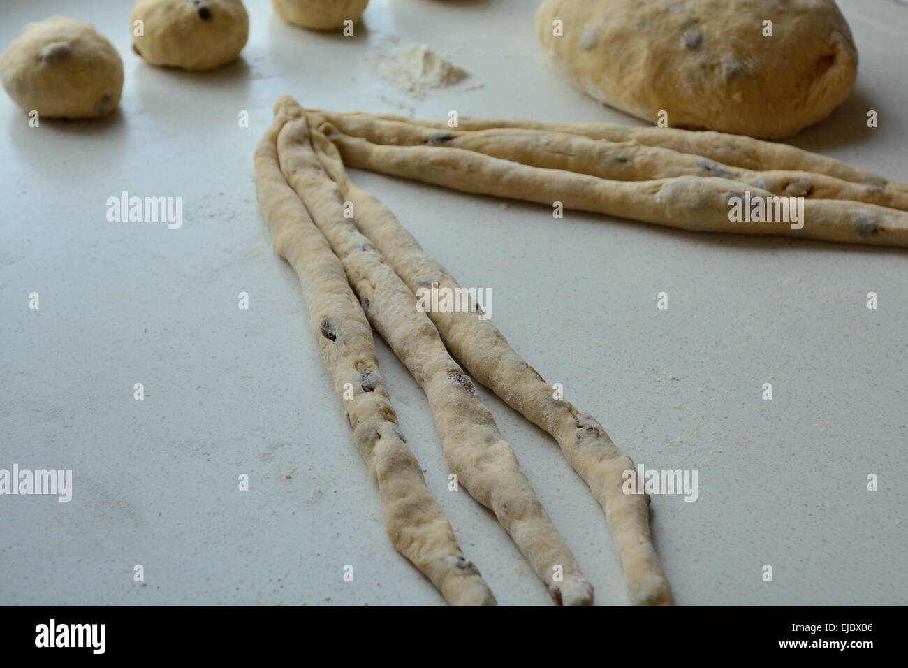
[[[299,284],[271,252],[253,146],[285,92],[336,110],[638,125],[545,65],[526,0],[372,0],[354,39],[246,5],[242,61],[191,75],[133,54],[131,3],[0,3],[4,48],[26,22],[70,15],[114,42],[126,74],[121,110],[98,122],[32,129],[0,100],[0,467],[74,471],[69,503],[0,497],[0,603],[443,603],[384,533]],[[839,5],[861,55],[854,95],[793,143],[908,182],[908,9]],[[421,100],[376,79],[371,52],[411,42],[471,76]],[[353,176],[462,284],[492,289],[508,341],[638,464],[696,468],[696,503],[653,499],[678,603],[905,602],[904,250],[554,221],[545,207]],[[108,223],[105,201],[122,191],[182,196],[183,228]],[[548,603],[494,516],[448,491],[425,398],[378,345],[464,551],[499,603]],[[482,394],[597,603],[626,603],[586,485],[552,439]]]

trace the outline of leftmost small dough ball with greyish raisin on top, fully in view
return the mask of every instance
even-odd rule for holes
[[[51,118],[110,114],[123,92],[123,61],[94,29],[64,16],[25,25],[0,58],[3,85],[26,112]]]

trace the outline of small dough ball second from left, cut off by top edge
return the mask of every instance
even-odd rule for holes
[[[143,35],[136,35],[142,21]],[[241,0],[139,0],[133,48],[152,65],[210,70],[236,60],[249,37]]]

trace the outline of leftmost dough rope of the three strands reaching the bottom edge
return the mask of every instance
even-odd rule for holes
[[[449,603],[494,605],[489,586],[460,552],[448,519],[404,442],[379,374],[369,322],[341,262],[281,174],[276,140],[287,120],[277,115],[256,147],[256,190],[275,251],[300,278],[311,331],[335,389],[342,395],[345,384],[353,388],[353,398],[345,402],[347,421],[378,484],[388,535]]]

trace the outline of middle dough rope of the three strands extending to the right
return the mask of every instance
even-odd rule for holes
[[[843,199],[891,206],[908,211],[908,191],[892,184],[855,184],[814,174],[775,170],[758,172],[722,165],[702,155],[678,153],[636,140],[610,142],[523,128],[436,130],[423,125],[389,121],[370,114],[318,112],[345,135],[373,144],[437,145],[463,148],[524,165],[563,169],[617,181],[650,181],[673,176],[718,176],[753,185],[778,196]]]

